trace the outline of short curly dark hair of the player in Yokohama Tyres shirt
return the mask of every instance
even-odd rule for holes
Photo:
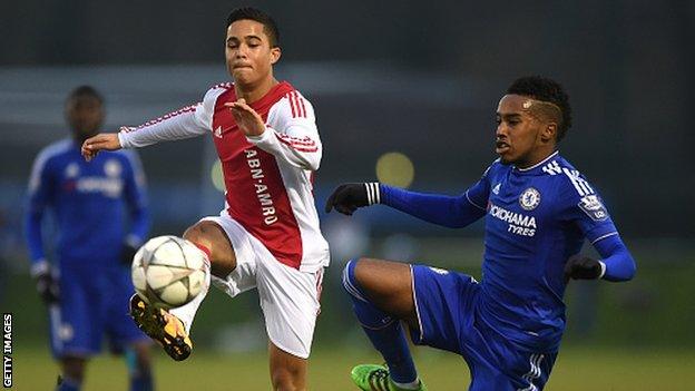
[[[522,95],[557,106],[562,114],[560,124],[558,124],[558,141],[565,137],[565,134],[571,127],[569,96],[559,82],[541,76],[526,76],[516,79],[507,89],[507,94]]]

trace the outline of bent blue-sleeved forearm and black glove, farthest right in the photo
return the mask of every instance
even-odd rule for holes
[[[629,281],[635,276],[635,260],[617,233],[594,243],[594,246],[603,260],[580,254],[572,255],[565,264],[566,282],[570,278],[619,282]]]

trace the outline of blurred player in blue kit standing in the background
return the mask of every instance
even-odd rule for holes
[[[72,138],[49,145],[33,163],[26,215],[31,275],[49,309],[51,348],[62,371],[58,390],[80,389],[104,334],[115,352],[125,352],[130,390],[151,390],[151,341],[128,317],[129,266],[149,228],[145,177],[133,153],[106,153],[91,164],[81,157],[80,146],[104,117],[101,95],[78,87],[66,101]],[[52,263],[41,229],[47,209],[57,228]]]

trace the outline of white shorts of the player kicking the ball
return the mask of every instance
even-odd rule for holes
[[[321,309],[323,270],[305,273],[280,263],[226,212],[200,221],[219,225],[236,255],[236,268],[226,278],[213,276],[213,284],[232,297],[257,287],[271,342],[292,355],[307,359]]]

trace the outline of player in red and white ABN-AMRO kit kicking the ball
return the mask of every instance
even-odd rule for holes
[[[89,160],[99,150],[211,134],[224,173],[225,209],[190,226],[184,238],[207,254],[213,283],[228,295],[258,290],[273,387],[303,390],[329,264],[312,194],[322,155],[314,109],[288,82],[274,78],[278,32],[264,12],[232,11],[225,57],[234,82],[216,85],[202,102],[137,128],[89,138],[82,155]],[[184,360],[207,286],[193,302],[168,312],[135,295],[131,315],[174,360]]]

